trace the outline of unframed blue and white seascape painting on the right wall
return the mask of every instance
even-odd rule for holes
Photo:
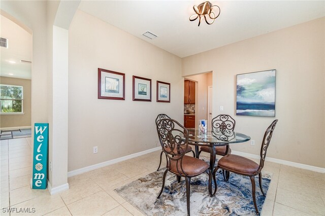
[[[275,116],[275,69],[237,75],[236,115]]]

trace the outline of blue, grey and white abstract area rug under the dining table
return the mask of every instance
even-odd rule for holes
[[[207,160],[205,158],[205,160]],[[166,168],[152,172],[136,181],[122,186],[115,191],[145,215],[186,215],[185,179],[177,182],[175,174],[167,173],[163,194],[157,199],[163,183]],[[263,173],[263,190],[267,193],[272,173]],[[208,174],[191,178],[190,214],[191,215],[256,215],[249,177],[230,174],[228,182],[222,174],[217,174],[217,193],[210,197],[208,192]],[[262,211],[265,201],[256,182],[256,203]],[[214,187],[213,187],[214,190]]]

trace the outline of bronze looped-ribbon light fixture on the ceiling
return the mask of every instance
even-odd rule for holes
[[[216,9],[217,11],[213,11],[214,9]],[[217,5],[212,6],[212,4],[208,1],[200,4],[198,7],[194,5],[193,10],[194,10],[195,14],[193,14],[192,16],[189,17],[189,21],[194,21],[200,17],[198,26],[200,26],[200,23],[201,23],[201,20],[203,19],[203,17],[204,17],[206,23],[211,25],[214,22],[214,20],[220,15],[219,6],[217,6]],[[212,22],[209,22],[208,21],[209,19],[212,20]]]

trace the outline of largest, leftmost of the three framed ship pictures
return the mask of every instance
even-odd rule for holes
[[[98,98],[125,99],[125,74],[98,68]]]

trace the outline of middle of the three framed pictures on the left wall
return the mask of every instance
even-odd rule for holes
[[[133,100],[151,101],[151,79],[133,76]]]

